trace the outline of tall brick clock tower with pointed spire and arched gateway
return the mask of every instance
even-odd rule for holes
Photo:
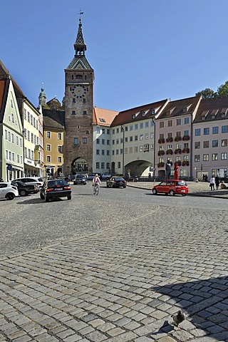
[[[92,172],[93,167],[93,81],[86,59],[81,18],[74,43],[75,56],[65,69],[66,157],[64,170]]]

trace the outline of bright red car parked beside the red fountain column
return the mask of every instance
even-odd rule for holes
[[[160,184],[152,187],[154,195],[157,195],[158,192],[165,195],[169,194],[170,196],[176,194],[186,196],[188,194],[188,186],[185,180],[163,180]]]

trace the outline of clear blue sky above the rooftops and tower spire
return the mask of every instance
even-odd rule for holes
[[[228,80],[227,0],[0,0],[0,60],[28,100],[64,96],[79,14],[94,105],[127,110]]]

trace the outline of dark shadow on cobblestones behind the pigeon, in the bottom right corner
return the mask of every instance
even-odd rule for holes
[[[213,341],[228,341],[228,277],[190,281],[180,284],[157,286],[160,294],[169,296],[175,301],[177,311],[182,309],[187,322],[204,331],[205,336]],[[147,305],[155,307],[161,302],[153,299]],[[182,323],[185,330],[185,323]],[[167,332],[167,324],[160,330]],[[187,329],[188,330],[188,329]],[[178,331],[179,336],[185,331]],[[176,336],[177,331],[170,331]],[[184,337],[184,336],[182,336]],[[183,340],[184,341],[184,340]]]

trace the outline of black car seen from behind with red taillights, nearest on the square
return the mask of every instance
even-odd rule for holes
[[[48,202],[49,199],[67,197],[71,199],[71,186],[66,180],[46,180],[41,187],[41,199]]]

